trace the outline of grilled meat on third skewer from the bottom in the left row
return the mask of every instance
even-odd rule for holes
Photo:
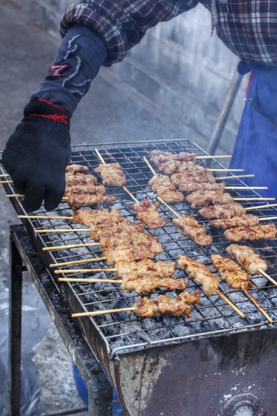
[[[116,277],[130,276],[156,276],[156,277],[172,277],[175,272],[175,263],[164,263],[163,261],[152,261],[145,259],[142,261],[119,261],[116,263]]]

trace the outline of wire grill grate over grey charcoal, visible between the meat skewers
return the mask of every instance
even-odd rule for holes
[[[175,141],[153,141],[151,144],[148,142],[141,143],[128,143],[128,144],[94,144],[84,146],[72,147],[72,162],[76,164],[84,164],[89,166],[89,171],[94,175],[94,168],[100,163],[94,148],[97,147],[100,151],[105,162],[118,162],[122,167],[127,177],[126,187],[131,191],[138,200],[149,198],[152,202],[157,202],[157,196],[152,193],[148,187],[148,181],[152,174],[150,169],[143,161],[143,156],[147,156],[149,159],[150,151],[153,149],[159,149],[162,151],[170,151],[172,153],[179,153],[181,150],[191,153],[197,153],[197,155],[205,155],[204,150],[199,148],[196,144],[190,144],[188,140],[175,140]],[[220,160],[220,159],[218,159]],[[198,161],[201,163],[201,161]],[[217,162],[216,159],[207,159],[204,166],[208,168],[224,168],[222,164]],[[239,168],[240,166],[238,166]],[[3,171],[3,167],[1,168]],[[4,173],[5,171],[3,171]],[[247,172],[251,173],[251,172]],[[217,176],[225,175],[224,173],[217,173]],[[232,176],[232,174],[229,174]],[[100,182],[100,181],[98,181]],[[227,186],[242,186],[244,182],[238,179],[225,180]],[[258,182],[257,186],[265,186]],[[14,193],[15,190],[9,185],[10,193]],[[8,189],[6,187],[6,189]],[[232,196],[245,196],[254,197],[258,196],[258,193],[253,190],[243,191],[229,191]],[[136,217],[129,209],[129,205],[134,202],[123,189],[109,187],[107,194],[114,194],[117,197],[117,201],[109,208],[120,209],[124,218],[134,220]],[[242,205],[249,207],[251,205],[261,205],[261,202],[242,202]],[[190,209],[190,206],[186,202],[176,203],[171,205],[178,214],[196,214],[197,209]],[[21,205],[19,199],[19,214],[26,214],[24,207]],[[162,216],[166,218],[173,218],[174,215],[168,208],[161,205],[160,211]],[[255,211],[257,213],[257,211]],[[45,211],[43,208],[36,211],[37,215],[60,215],[71,216],[72,211],[68,205],[64,202],[55,211]],[[277,214],[277,211],[276,211]],[[263,209],[258,211],[257,215],[267,215],[267,210]],[[208,222],[202,220],[200,216],[196,216],[199,223],[202,223],[208,229],[208,233],[213,236],[213,245],[206,247],[199,247],[195,245],[193,241],[186,239],[177,232],[177,229],[173,227],[172,222],[168,223],[163,228],[154,229],[149,232],[153,236],[157,236],[159,242],[163,245],[163,253],[159,254],[155,260],[163,261],[177,261],[179,254],[184,254],[188,257],[201,261],[207,266],[211,267],[213,272],[213,266],[211,265],[211,254],[217,253],[224,255],[224,250],[229,242],[225,241],[222,232],[218,229],[209,229]],[[71,220],[29,220],[31,221],[33,228],[35,229],[59,229],[68,228],[72,229],[72,233],[64,234],[39,234],[37,238],[41,239],[44,246],[50,245],[69,245],[88,243],[89,233],[80,232],[84,226],[72,225]],[[66,225],[65,225],[66,224]],[[256,241],[252,243],[246,243],[258,252],[263,259],[266,259],[269,263],[268,274],[277,279],[277,241]],[[226,254],[226,253],[225,253]],[[57,250],[51,252],[53,262],[64,262],[70,260],[91,259],[96,257],[102,257],[102,251],[98,246],[72,248],[66,250]],[[70,266],[65,266],[66,269]],[[74,265],[72,268],[105,268],[107,267],[105,262],[99,263],[87,263],[80,266]],[[66,277],[73,277],[76,274]],[[175,272],[176,277],[186,275],[186,272],[177,270]],[[91,275],[84,275],[78,273],[78,277],[91,277]],[[102,277],[113,278],[111,272],[94,273],[93,277],[101,279]],[[267,281],[263,277],[253,276],[253,289],[251,289],[251,295],[258,300],[260,305],[269,313],[271,318],[277,322],[277,287]],[[193,280],[187,281],[188,291],[195,291],[199,289]],[[120,291],[118,284],[71,284],[75,296],[82,302],[85,310],[96,311],[98,309],[115,309],[121,307],[132,306],[134,302],[140,299],[140,296],[136,293],[129,293],[127,291]],[[201,289],[201,288],[200,288]],[[265,321],[265,317],[258,311],[255,306],[249,301],[249,299],[242,293],[242,291],[233,291],[225,283],[220,283],[221,291],[229,297],[229,299],[246,315],[246,319],[240,318],[233,309],[227,304],[224,304],[222,299],[217,295],[210,297],[202,295],[201,304],[193,307],[192,318],[177,318],[172,315],[165,315],[156,318],[142,319],[137,317],[133,312],[114,313],[111,315],[100,315],[93,318],[94,323],[97,325],[100,333],[104,337],[108,349],[110,358],[116,354],[116,352],[124,349],[134,349],[139,347],[145,347],[146,345],[156,345],[158,343],[169,343],[172,341],[190,340],[193,337],[199,336],[214,336],[222,333],[230,333],[231,331],[247,331],[249,329],[260,329],[275,327],[274,324],[268,324]],[[156,291],[150,296],[157,296],[158,294],[174,295],[172,292],[166,290]],[[77,311],[76,311],[77,312]]]

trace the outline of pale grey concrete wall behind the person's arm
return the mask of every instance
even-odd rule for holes
[[[10,0],[37,24],[57,34],[58,21],[71,0]],[[206,146],[213,132],[238,58],[211,37],[211,15],[199,4],[170,22],[150,29],[122,64],[109,71],[136,89],[162,112],[197,132]],[[141,81],[139,81],[141,80]],[[230,153],[242,112],[247,79],[235,100],[220,146]]]

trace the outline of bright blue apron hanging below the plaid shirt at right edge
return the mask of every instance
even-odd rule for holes
[[[240,62],[238,70],[253,71],[242,112],[231,168],[244,168],[255,177],[249,186],[268,187],[258,191],[277,202],[277,68]]]

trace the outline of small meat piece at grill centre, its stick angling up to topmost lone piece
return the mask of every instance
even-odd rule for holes
[[[145,199],[143,202],[139,202],[139,204],[130,205],[129,208],[134,211],[139,220],[147,225],[148,229],[161,228],[169,222],[157,211],[159,202],[153,205],[150,200]]]

